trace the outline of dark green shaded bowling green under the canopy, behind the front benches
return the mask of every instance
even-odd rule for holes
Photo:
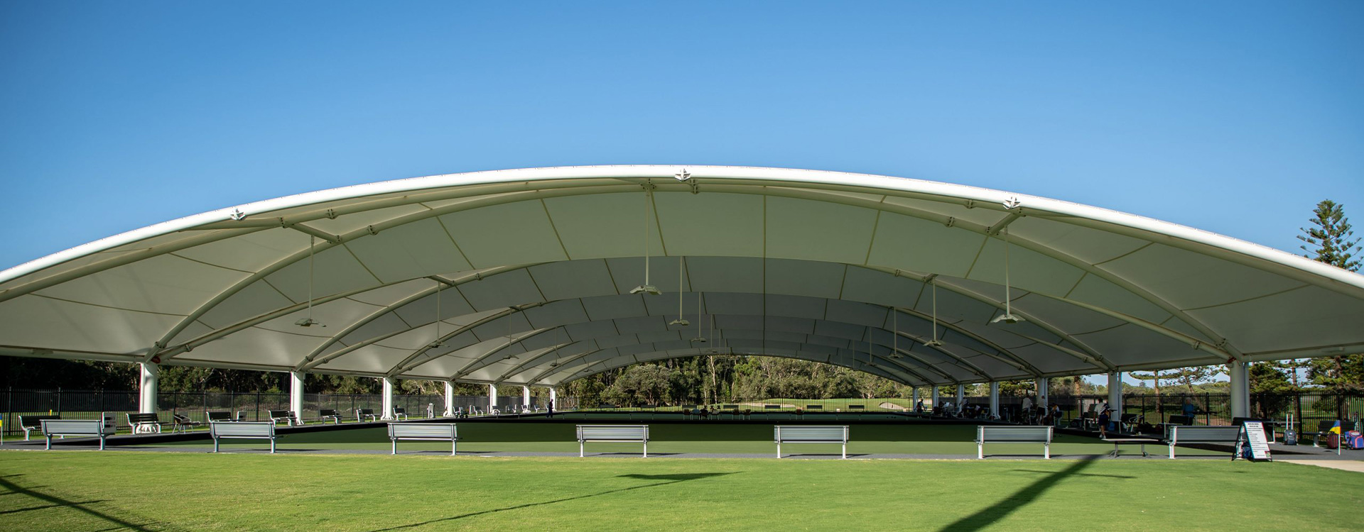
[[[577,453],[574,423],[537,422],[464,422],[458,423],[461,452],[554,452]],[[854,425],[848,431],[851,454],[963,454],[975,456],[975,426],[973,425]],[[649,453],[757,453],[776,454],[772,444],[771,425],[739,423],[655,423],[649,426]],[[226,442],[226,441],[225,441]],[[209,439],[162,444],[175,446],[195,446],[209,449]],[[389,449],[386,429],[352,429],[319,433],[289,434],[280,438],[280,449]],[[228,449],[263,449],[262,441],[233,441],[224,444]],[[400,442],[400,452],[449,450],[450,444],[442,442]],[[588,444],[589,453],[638,453],[640,444]],[[1148,445],[1147,452],[1168,453],[1168,448]],[[837,445],[802,444],[787,445],[782,450],[790,453],[837,453]],[[1053,454],[1103,454],[1113,450],[1113,444],[1097,438],[1057,434],[1052,444]],[[1124,446],[1124,453],[1138,453],[1135,445]],[[989,444],[986,454],[1042,454],[1041,444]],[[1199,449],[1180,449],[1180,456],[1219,454]]]

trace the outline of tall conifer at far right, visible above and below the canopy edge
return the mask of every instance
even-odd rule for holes
[[[1311,229],[1301,227],[1297,238],[1304,244],[1304,257],[1348,271],[1359,271],[1360,239],[1354,238],[1345,205],[1322,200],[1312,210]],[[1311,248],[1308,248],[1311,246]],[[1312,359],[1307,370],[1312,384],[1324,386],[1335,397],[1335,415],[1345,416],[1345,395],[1364,390],[1364,355],[1335,355]]]

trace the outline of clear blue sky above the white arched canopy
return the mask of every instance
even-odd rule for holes
[[[297,192],[592,163],[915,177],[1297,250],[1320,199],[1364,225],[1361,22],[1360,1],[8,0],[0,268]]]

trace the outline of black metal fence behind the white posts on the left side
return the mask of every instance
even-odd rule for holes
[[[543,400],[531,399],[531,408],[543,408]],[[559,401],[566,403],[566,401]],[[567,403],[572,403],[569,400]],[[412,418],[441,416],[445,414],[445,397],[439,395],[394,395],[393,407],[404,408]],[[488,410],[487,396],[456,396],[454,407],[469,411]],[[499,396],[498,410],[520,411],[521,396]],[[565,408],[555,405],[557,408]],[[303,395],[303,416],[306,420],[316,419],[323,408],[337,410],[344,415],[353,416],[357,408],[371,408],[375,412],[383,408],[381,395]],[[157,395],[157,414],[162,422],[170,422],[172,414],[188,416],[196,422],[207,420],[207,411],[232,412],[243,420],[269,420],[271,410],[289,410],[288,393],[270,392],[162,392]],[[4,415],[4,434],[11,437],[22,434],[19,427],[20,415],[55,414],[64,419],[98,419],[100,412],[113,412],[121,429],[127,429],[128,418],[124,414],[138,412],[136,390],[75,390],[75,389],[7,389],[0,396],[0,415]]]

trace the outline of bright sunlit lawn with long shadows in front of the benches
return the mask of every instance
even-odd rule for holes
[[[4,531],[1352,529],[1364,475],[1224,460],[0,452]]]

